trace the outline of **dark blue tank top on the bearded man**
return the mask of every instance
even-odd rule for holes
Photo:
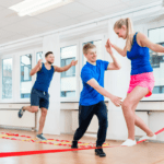
[[[50,70],[47,70],[45,68],[45,65],[43,63],[42,69],[37,72],[36,81],[35,81],[33,89],[48,92],[48,87],[50,85],[50,81],[52,79],[54,71],[55,71],[55,69],[52,66],[51,66]]]

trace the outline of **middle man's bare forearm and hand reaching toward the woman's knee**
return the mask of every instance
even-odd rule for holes
[[[104,87],[102,87],[97,81],[95,79],[91,79],[86,82],[90,86],[92,86],[93,89],[95,89],[99,94],[108,97],[116,106],[120,106],[121,105],[121,97],[117,97],[113,94],[110,94],[109,92],[107,92]]]

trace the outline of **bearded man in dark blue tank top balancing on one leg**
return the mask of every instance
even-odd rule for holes
[[[52,66],[55,61],[55,56],[52,51],[48,51],[45,55],[45,59],[46,59],[45,63],[43,63],[40,59],[30,73],[31,75],[37,73],[35,84],[31,91],[31,106],[23,106],[19,112],[19,117],[22,118],[23,113],[25,110],[28,110],[31,113],[37,113],[38,107],[40,108],[42,116],[39,119],[38,133],[36,136],[39,140],[47,140],[43,136],[43,129],[44,129],[46,115],[49,106],[48,87],[50,85],[50,81],[52,80],[54,72],[65,72],[69,70],[72,66],[75,66],[78,62],[72,60],[70,65],[61,68],[57,66]]]

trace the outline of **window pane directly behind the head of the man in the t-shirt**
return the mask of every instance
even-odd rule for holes
[[[94,42],[87,42],[91,43],[93,45],[96,46],[96,54],[97,54],[97,59],[103,59],[103,42],[102,40],[94,40]],[[83,46],[87,43],[83,43]],[[86,63],[86,58],[84,57],[84,55],[82,56],[82,66],[84,66]]]

